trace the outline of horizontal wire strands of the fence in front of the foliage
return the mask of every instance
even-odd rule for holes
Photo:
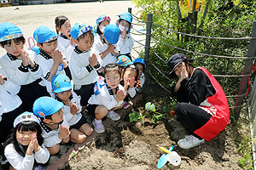
[[[197,35],[192,35],[192,34],[188,34],[188,33],[183,33],[183,32],[180,32],[180,31],[174,31],[174,30],[168,29],[166,27],[159,26],[159,25],[155,24],[154,22],[152,22],[152,20],[145,21],[145,20],[142,20],[142,19],[138,18],[136,15],[133,15],[133,14],[132,14],[132,16],[133,16],[134,20],[137,21],[137,23],[135,23],[135,24],[133,23],[133,25],[135,25],[135,26],[147,26],[147,30],[148,30],[148,26],[150,26],[150,24],[151,24],[151,26],[159,27],[160,29],[164,29],[166,31],[170,31],[170,32],[173,32],[173,33],[177,33],[179,35],[187,36],[187,37],[207,38],[207,39],[214,39],[214,40],[228,40],[228,41],[252,41],[252,40],[256,40],[256,36],[255,37],[253,37],[253,36],[252,37],[206,37],[206,36],[197,36]],[[150,29],[151,29],[151,27],[150,27]],[[204,58],[204,57],[222,58],[222,59],[246,59],[246,60],[252,59],[252,62],[253,62],[253,59],[255,59],[254,55],[253,55],[253,57],[251,57],[251,56],[244,56],[244,57],[241,57],[241,56],[225,56],[225,55],[217,55],[217,54],[204,54],[204,53],[191,51],[191,50],[184,49],[184,48],[178,48],[174,45],[166,43],[165,39],[160,39],[159,37],[154,37],[154,36],[152,36],[151,33],[148,34],[148,31],[146,33],[143,32],[143,31],[138,31],[135,27],[132,28],[131,34],[145,36],[146,41],[147,41],[147,36],[149,36],[150,39],[152,38],[154,40],[154,43],[160,42],[162,44],[165,44],[169,48],[175,48],[179,51],[183,51],[183,52],[186,52],[186,53],[189,53],[189,54],[201,55],[201,57],[197,57],[196,59],[201,59],[201,58]],[[160,59],[160,62],[163,62],[163,64],[166,65],[167,64],[166,59],[161,57],[160,54],[157,54],[157,52],[153,48],[150,48],[150,47],[152,47],[150,45],[151,44],[150,39],[149,39],[149,51],[150,51],[150,53],[154,54],[157,57],[157,59]],[[143,42],[145,40],[137,41],[136,39],[133,39],[133,38],[132,38],[132,40],[134,42],[137,42],[140,45],[139,46],[140,48],[144,47],[145,50],[146,50],[147,44],[143,44]],[[139,54],[140,56],[143,57],[143,54],[141,54],[139,51],[137,51],[136,48],[132,48],[132,49],[137,54]],[[146,54],[146,52],[145,52],[145,54]],[[145,59],[146,59],[146,57],[145,57]],[[152,68],[154,68],[155,71],[160,73],[161,77],[164,77],[167,81],[172,82],[172,79],[170,77],[166,76],[166,74],[163,71],[161,71],[160,68],[158,68],[157,65],[155,65],[154,62],[150,60],[149,57],[148,57],[148,65],[151,65]],[[244,74],[240,74],[240,75],[212,75],[212,76],[213,77],[231,77],[231,78],[232,77],[236,77],[236,78],[244,78],[245,77],[246,78],[246,77],[250,77],[251,73],[252,73],[252,71],[250,71],[248,73],[245,72]],[[161,88],[165,89],[167,93],[171,94],[171,91],[168,88],[166,88],[159,80],[157,80],[157,78],[153,76],[151,71],[148,71],[148,75],[150,77],[152,77],[154,79],[154,81],[157,82],[160,85]],[[247,95],[247,93],[242,93],[242,94],[237,94],[237,95],[226,95],[226,97],[227,98],[240,98],[240,97],[244,97],[246,95]],[[243,104],[236,105],[236,106],[230,106],[230,109],[239,108],[239,107],[241,107],[241,105],[243,105]]]

